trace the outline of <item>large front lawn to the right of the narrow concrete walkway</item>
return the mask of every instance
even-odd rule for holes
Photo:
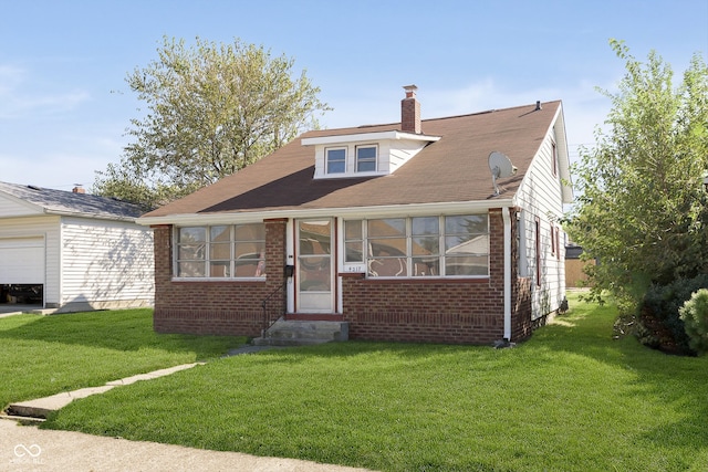
[[[612,307],[513,349],[343,343],[217,359],[44,427],[384,471],[708,470],[708,357],[612,338]]]

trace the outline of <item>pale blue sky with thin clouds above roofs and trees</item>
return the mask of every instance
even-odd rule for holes
[[[323,126],[562,99],[571,157],[592,145],[624,64],[657,51],[676,83],[708,57],[708,0],[0,0],[0,180],[71,190],[118,162],[140,103],[125,82],[163,35],[263,45],[306,70]]]

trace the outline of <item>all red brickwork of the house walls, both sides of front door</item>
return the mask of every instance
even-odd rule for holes
[[[507,210],[504,210],[507,211]],[[512,214],[512,241],[517,224]],[[503,337],[503,220],[491,210],[490,271],[481,280],[366,280],[342,274],[343,318],[351,339],[490,344]],[[170,227],[155,228],[155,329],[258,336],[261,301],[284,281],[285,220],[266,222],[262,282],[173,282]],[[512,244],[512,338],[530,336],[530,281],[518,279]],[[284,312],[284,300],[275,300]]]

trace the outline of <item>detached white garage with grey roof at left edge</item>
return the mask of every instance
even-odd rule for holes
[[[0,303],[152,306],[153,233],[111,198],[0,182]]]

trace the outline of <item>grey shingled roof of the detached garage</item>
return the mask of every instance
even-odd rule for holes
[[[134,221],[143,213],[139,207],[125,201],[35,186],[0,182],[1,193],[20,199],[49,214]]]

